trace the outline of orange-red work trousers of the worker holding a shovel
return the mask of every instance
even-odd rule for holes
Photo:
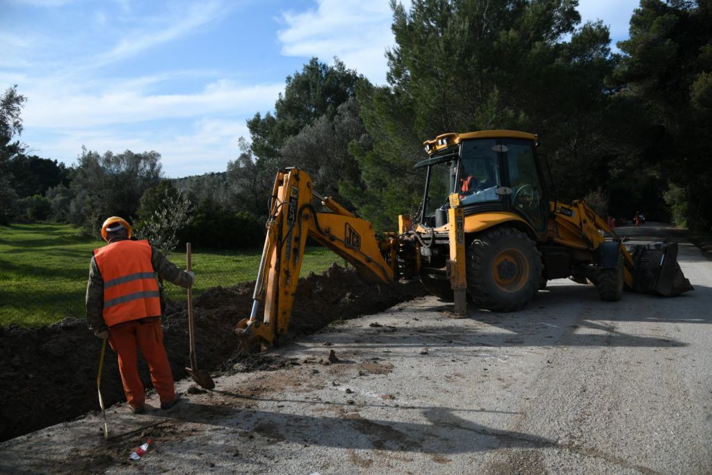
[[[147,320],[147,319],[142,319]],[[141,320],[113,325],[109,331],[109,343],[119,359],[119,372],[124,386],[126,401],[131,407],[142,406],[146,394],[138,375],[137,349],[140,348],[148,363],[153,387],[156,388],[161,402],[171,402],[175,397],[173,373],[168,362],[168,355],[163,346],[161,320],[152,318],[147,323]]]

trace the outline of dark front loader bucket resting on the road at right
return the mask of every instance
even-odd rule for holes
[[[677,243],[632,246],[633,290],[665,297],[694,290],[677,261]]]

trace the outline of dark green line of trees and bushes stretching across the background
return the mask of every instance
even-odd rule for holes
[[[332,66],[312,58],[286,78],[273,111],[247,121],[250,136],[224,173],[165,180],[157,152],[83,150],[73,167],[26,156],[16,139],[24,98],[10,88],[0,116],[0,222],[95,230],[103,216],[122,214],[140,227],[184,199],[184,239],[253,245],[276,171],[295,166],[321,194],[394,229],[398,214],[419,209],[424,174],[413,165],[424,140],[503,128],[539,135],[556,199],[712,229],[710,0],[642,0],[619,53],[600,21],[581,23],[575,0],[391,7],[387,85],[337,58]]]

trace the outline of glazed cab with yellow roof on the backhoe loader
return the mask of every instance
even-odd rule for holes
[[[537,136],[513,130],[449,133],[424,142],[430,156],[420,225],[447,224],[449,196],[456,193],[465,215],[512,212],[542,232],[548,198],[536,156]]]

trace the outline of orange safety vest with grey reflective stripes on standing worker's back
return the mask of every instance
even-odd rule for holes
[[[104,281],[107,326],[161,315],[158,284],[148,241],[117,241],[95,249],[94,260]]]

